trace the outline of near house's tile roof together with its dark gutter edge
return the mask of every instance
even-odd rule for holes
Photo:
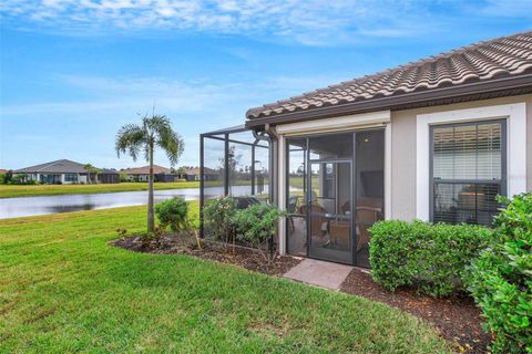
[[[532,92],[532,31],[479,42],[247,111],[247,126]]]

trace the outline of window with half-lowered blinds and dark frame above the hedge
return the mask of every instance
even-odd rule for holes
[[[431,127],[431,219],[490,225],[505,195],[505,122]]]

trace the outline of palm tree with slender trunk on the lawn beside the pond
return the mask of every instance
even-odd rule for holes
[[[144,152],[144,157],[150,164],[149,194],[147,194],[147,232],[155,230],[153,212],[153,152],[155,147],[162,148],[174,166],[183,154],[184,142],[180,134],[174,132],[172,123],[164,115],[145,115],[142,124],[126,124],[116,134],[116,155],[129,154],[136,160],[139,154]]]

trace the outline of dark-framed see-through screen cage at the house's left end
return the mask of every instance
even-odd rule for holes
[[[201,235],[208,236],[203,208],[211,200],[232,196],[239,207],[270,200],[270,143],[239,125],[200,135]]]

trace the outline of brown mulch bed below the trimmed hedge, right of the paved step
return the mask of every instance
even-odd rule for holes
[[[480,310],[469,296],[433,299],[410,289],[391,293],[377,284],[368,271],[354,269],[341,291],[380,301],[432,323],[460,352],[487,353],[490,336],[482,331]]]

